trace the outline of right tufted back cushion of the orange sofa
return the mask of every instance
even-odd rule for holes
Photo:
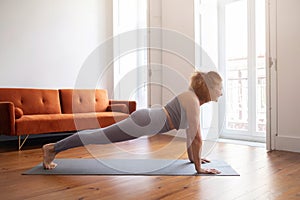
[[[61,89],[62,113],[85,113],[106,111],[109,100],[106,90]]]

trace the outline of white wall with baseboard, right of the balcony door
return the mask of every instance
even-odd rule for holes
[[[270,1],[271,148],[300,152],[300,1]]]

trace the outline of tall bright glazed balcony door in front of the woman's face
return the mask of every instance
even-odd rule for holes
[[[219,9],[226,90],[222,134],[265,141],[265,1],[225,0]]]

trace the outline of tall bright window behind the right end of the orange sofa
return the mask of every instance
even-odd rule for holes
[[[147,0],[114,0],[113,13],[114,98],[147,107]]]

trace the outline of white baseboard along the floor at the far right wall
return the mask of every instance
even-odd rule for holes
[[[300,153],[300,138],[295,137],[275,137],[275,150],[292,151]]]

